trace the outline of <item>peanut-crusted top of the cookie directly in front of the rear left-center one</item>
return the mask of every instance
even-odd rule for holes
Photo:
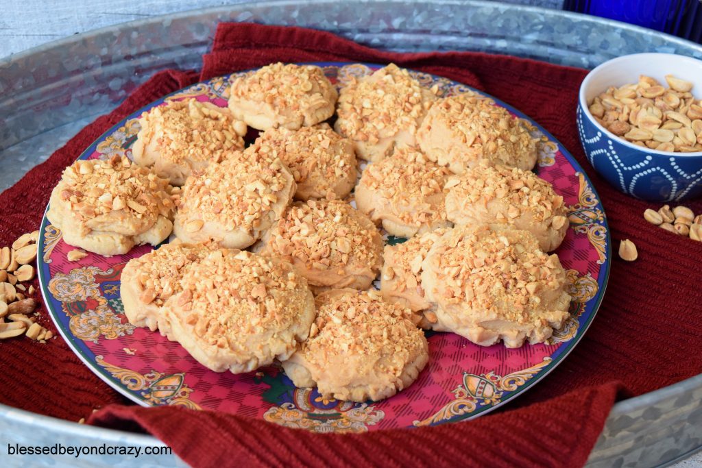
[[[356,180],[356,155],[350,140],[326,123],[298,131],[270,128],[256,140],[260,152],[279,157],[298,185],[296,198],[343,199]]]

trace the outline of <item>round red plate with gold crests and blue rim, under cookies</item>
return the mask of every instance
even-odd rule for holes
[[[334,83],[363,76],[381,65],[319,63]],[[131,157],[138,116],[164,101],[195,97],[227,105],[230,78],[197,83],[131,114],[81,154],[81,159]],[[440,95],[476,91],[460,83],[411,72]],[[88,255],[68,262],[72,250],[46,217],[41,223],[38,258],[41,291],[61,335],[95,374],[144,406],[183,405],[237,413],[315,432],[363,432],[465,420],[515,398],[550,372],[583,337],[600,306],[607,284],[610,241],[604,210],[587,175],[549,133],[516,109],[498,105],[523,119],[541,140],[538,175],[553,184],[570,207],[568,234],[557,250],[567,269],[571,316],[550,345],[506,349],[480,347],[451,333],[428,333],[430,362],[409,389],[379,402],[323,399],[314,389],[298,389],[277,367],[241,375],[204,368],[176,342],[158,332],[135,328],[124,316],[119,276],[125,263],[151,250],[127,255]],[[388,241],[397,242],[390,238]]]

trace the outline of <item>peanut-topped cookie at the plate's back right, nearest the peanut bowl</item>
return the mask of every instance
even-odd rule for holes
[[[479,161],[531,171],[536,141],[507,109],[474,93],[436,102],[417,132],[422,151],[456,174]]]

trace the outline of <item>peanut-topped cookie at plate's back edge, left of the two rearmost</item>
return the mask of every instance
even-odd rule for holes
[[[258,130],[297,130],[329,119],[337,97],[321,68],[278,62],[235,79],[229,108],[236,119]]]

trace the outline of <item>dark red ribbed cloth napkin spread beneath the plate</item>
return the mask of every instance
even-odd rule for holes
[[[633,263],[612,258],[607,295],[582,342],[548,377],[491,415],[460,424],[357,435],[311,434],[235,415],[112,404],[88,422],[150,432],[194,466],[578,466],[585,463],[616,396],[638,395],[702,372],[698,351],[702,243],[642,218],[651,203],[600,179],[578,142],[575,110],[585,70],[481,53],[394,54],[310,29],[220,25],[201,79],[274,61],[395,62],[462,81],[510,102],[553,133],[592,178],[607,211],[614,251],[639,250]],[[191,83],[192,74],[154,76],[109,116],[86,127],[51,159],[0,195],[0,245],[36,229],[60,171],[129,112]],[[688,203],[696,212],[699,201]],[[48,322],[43,315],[44,323]],[[0,342],[0,401],[66,419],[123,401],[85,368],[62,340]],[[31,398],[27,396],[31,395]]]

